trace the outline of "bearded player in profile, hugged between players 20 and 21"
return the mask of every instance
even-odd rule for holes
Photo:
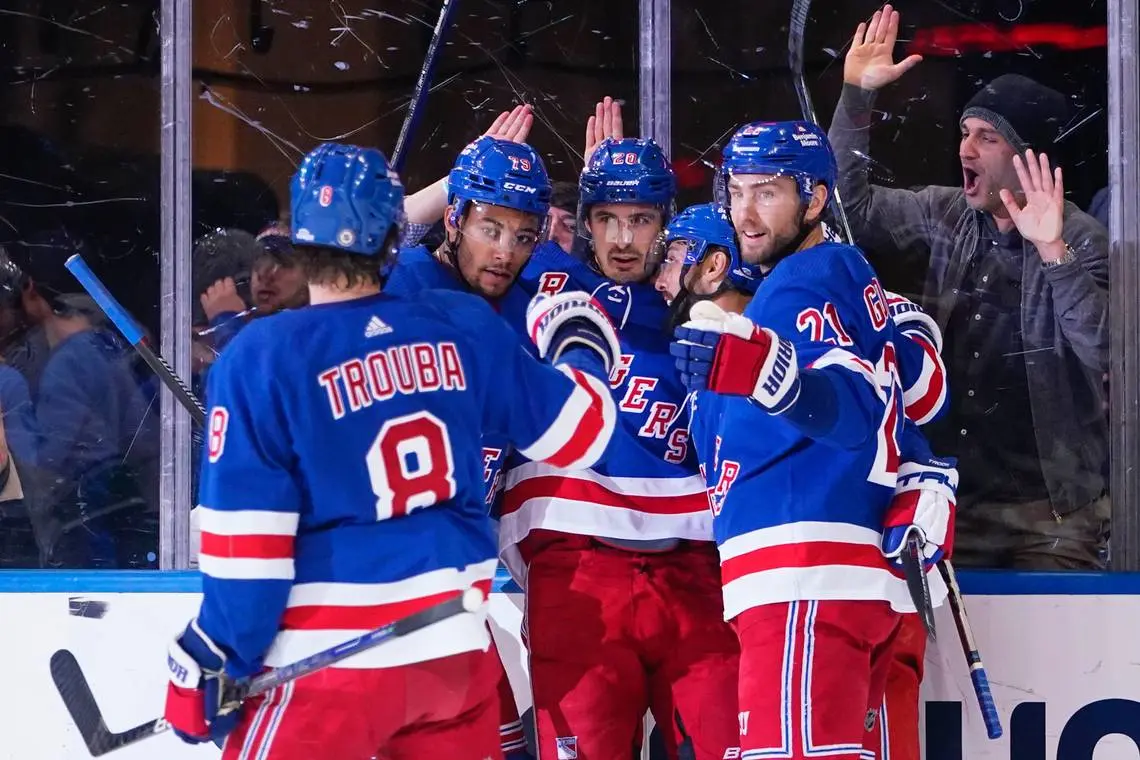
[[[670,303],[677,324],[687,320],[690,308],[701,301],[741,313],[763,279],[759,271],[740,259],[735,231],[718,204],[690,206],[675,216],[661,236],[656,258],[663,260],[657,288]],[[925,424],[946,406],[946,370],[939,356],[942,334],[934,320],[907,299],[887,292],[887,302],[899,333],[893,342],[904,389],[903,406],[912,423]],[[913,427],[907,433],[899,444],[903,474],[896,490],[901,499],[915,499],[923,495],[910,489],[911,476],[921,472],[915,465],[927,463],[931,455],[921,434]],[[700,449],[700,442],[694,443]],[[715,448],[714,441],[714,452]],[[716,483],[709,485],[715,488]],[[919,686],[926,654],[926,631],[918,615],[903,616],[895,644],[883,705],[864,744],[869,751],[881,752],[881,758],[918,760]],[[889,736],[882,735],[883,728]]]

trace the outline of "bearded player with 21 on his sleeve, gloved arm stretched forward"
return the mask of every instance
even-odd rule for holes
[[[823,134],[804,122],[746,125],[722,172],[741,263],[764,284],[742,314],[703,299],[674,351],[699,390],[693,441],[741,641],[741,757],[865,757],[895,610],[913,610],[888,561],[915,531],[929,564],[948,549],[956,474],[909,464],[940,484],[918,499],[899,479],[898,338],[857,248],[822,242],[834,182]],[[710,294],[709,278],[739,281],[724,261],[686,285]]]

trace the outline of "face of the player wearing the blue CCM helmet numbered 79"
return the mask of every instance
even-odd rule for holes
[[[459,221],[459,275],[484,299],[499,297],[534,253],[540,228],[535,214],[472,203]]]

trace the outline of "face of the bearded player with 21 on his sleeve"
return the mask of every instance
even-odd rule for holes
[[[728,203],[740,255],[750,264],[774,264],[799,236],[804,204],[790,177],[733,174]]]

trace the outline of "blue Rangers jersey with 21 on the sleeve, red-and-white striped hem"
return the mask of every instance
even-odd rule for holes
[[[692,398],[725,618],[791,599],[913,608],[879,549],[905,417],[874,271],[857,248],[824,243],[776,264],[744,314],[795,343],[801,392],[781,416],[747,398]]]

